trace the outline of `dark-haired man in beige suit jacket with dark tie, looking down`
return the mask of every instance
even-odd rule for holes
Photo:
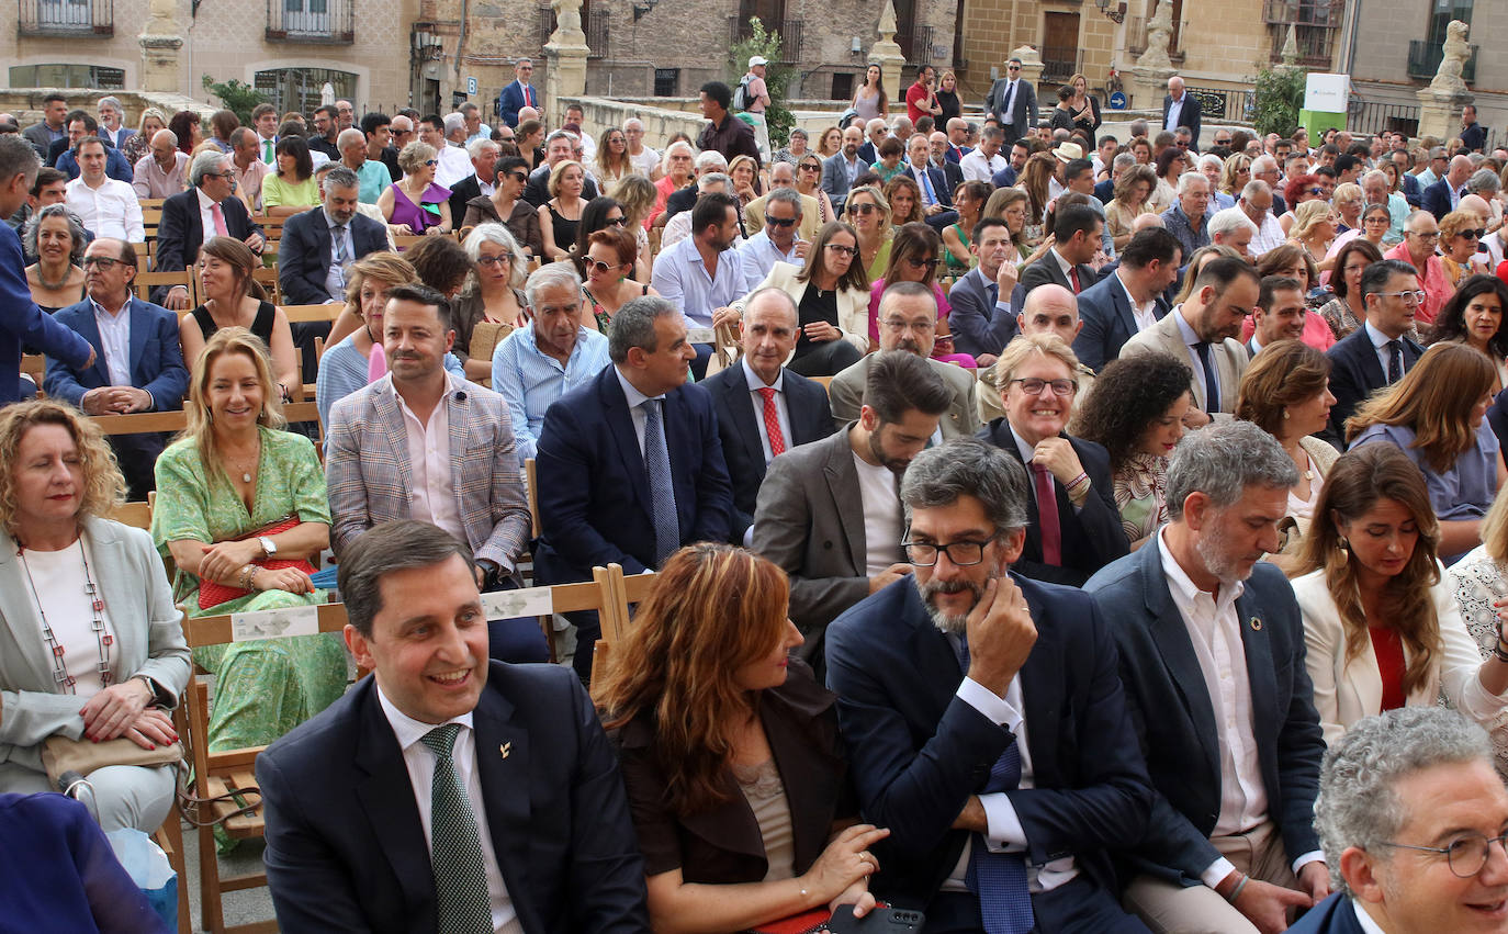
[[[1259,294],[1261,281],[1249,263],[1229,257],[1212,260],[1194,279],[1188,300],[1126,341],[1120,356],[1166,353],[1194,371],[1193,418],[1185,418],[1190,427],[1202,427],[1214,415],[1229,416],[1235,412],[1247,365],[1240,341],[1241,323],[1252,314]]]

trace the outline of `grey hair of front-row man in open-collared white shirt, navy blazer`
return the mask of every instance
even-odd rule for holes
[[[1167,518],[1184,518],[1184,499],[1199,492],[1226,508],[1249,486],[1289,489],[1298,468],[1277,439],[1249,421],[1221,421],[1179,442],[1167,465]]]

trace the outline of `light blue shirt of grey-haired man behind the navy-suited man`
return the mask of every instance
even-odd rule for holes
[[[492,352],[492,391],[508,403],[520,462],[537,454],[550,403],[590,382],[608,362],[608,338],[587,327],[576,329],[576,346],[564,367],[540,350],[532,324],[502,338]]]

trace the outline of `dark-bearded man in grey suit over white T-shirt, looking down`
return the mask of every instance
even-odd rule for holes
[[[829,622],[909,572],[896,489],[953,403],[930,361],[903,350],[866,359],[858,419],[775,457],[754,508],[754,551],[790,575],[790,619],[813,667]]]

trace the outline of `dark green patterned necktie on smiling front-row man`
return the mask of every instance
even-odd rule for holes
[[[481,854],[477,815],[455,774],[451,747],[460,724],[446,723],[419,742],[434,753],[434,785],[430,791],[430,866],[440,931],[483,934],[492,931],[492,898]]]

